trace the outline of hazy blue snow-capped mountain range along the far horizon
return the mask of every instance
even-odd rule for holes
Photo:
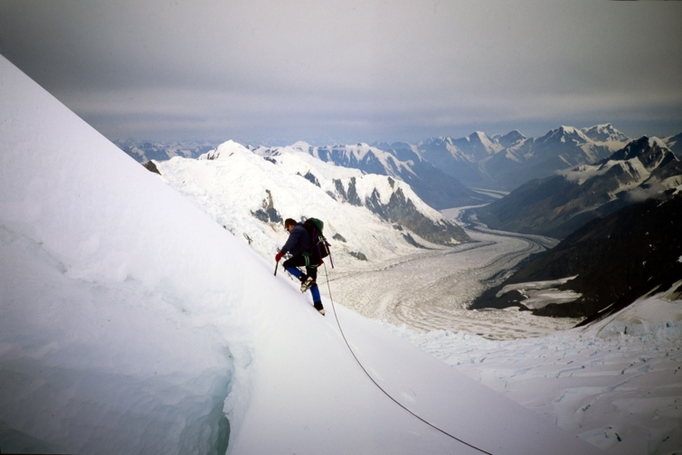
[[[662,139],[682,157],[682,133]],[[444,208],[486,204],[492,198],[476,189],[511,191],[535,178],[579,165],[593,165],[625,147],[630,139],[611,124],[590,128],[560,127],[543,137],[526,137],[514,130],[488,137],[435,137],[417,144],[405,142],[312,147],[305,142],[289,148],[336,166],[353,167],[367,174],[389,175],[412,186],[424,202]],[[140,163],[165,161],[173,156],[196,158],[215,149],[216,141],[115,141]],[[287,147],[248,146],[262,156]]]

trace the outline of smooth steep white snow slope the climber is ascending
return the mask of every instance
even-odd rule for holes
[[[4,58],[0,106],[5,452],[221,453],[226,415],[230,453],[480,453],[388,399],[271,263]],[[599,451],[336,310],[377,383],[444,431]]]

